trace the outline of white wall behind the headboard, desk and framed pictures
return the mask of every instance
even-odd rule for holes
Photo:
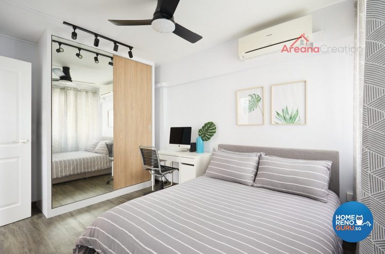
[[[313,13],[316,44],[353,46],[353,4],[342,2]],[[161,65],[156,69],[156,143],[166,147],[170,126],[192,126],[192,140],[207,121],[217,134],[205,144],[337,150],[340,199],[353,190],[353,56],[345,53],[275,53],[240,61],[237,40]],[[270,85],[307,80],[307,125],[271,125]],[[265,125],[238,126],[236,90],[264,86]]]

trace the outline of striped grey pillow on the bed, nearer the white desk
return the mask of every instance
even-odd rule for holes
[[[213,149],[205,176],[252,186],[260,153],[236,153]]]

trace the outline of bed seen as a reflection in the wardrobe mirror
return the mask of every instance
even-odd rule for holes
[[[52,184],[111,173],[106,154],[87,151],[52,154]]]

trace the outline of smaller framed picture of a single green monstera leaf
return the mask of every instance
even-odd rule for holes
[[[252,87],[237,91],[237,124],[264,124],[263,87]]]

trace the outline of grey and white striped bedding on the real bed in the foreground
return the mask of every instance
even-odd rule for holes
[[[201,176],[101,214],[73,253],[342,253],[339,204]]]

